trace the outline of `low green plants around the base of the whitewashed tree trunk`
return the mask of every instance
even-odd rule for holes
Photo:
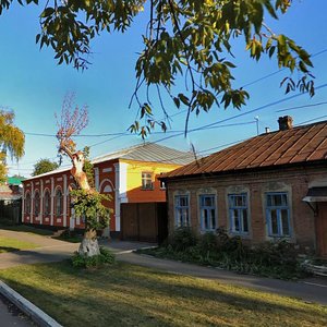
[[[94,256],[81,255],[78,252],[75,252],[71,262],[76,268],[99,268],[107,264],[113,264],[114,254],[104,247],[100,247],[99,255]]]

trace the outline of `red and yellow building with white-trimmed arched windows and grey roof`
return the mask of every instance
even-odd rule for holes
[[[111,201],[110,232],[119,233],[122,203],[165,202],[166,190],[157,177],[193,159],[190,153],[157,144],[142,144],[93,160],[95,186]],[[24,223],[56,228],[83,228],[83,219],[71,208],[69,190],[76,187],[70,168],[23,181]]]

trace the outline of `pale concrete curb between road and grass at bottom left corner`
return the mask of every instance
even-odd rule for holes
[[[49,315],[0,280],[0,293],[41,327],[62,327]]]

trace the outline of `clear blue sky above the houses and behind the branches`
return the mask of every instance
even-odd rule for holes
[[[290,95],[283,95],[283,90],[279,88],[286,72],[278,72],[275,61],[264,59],[259,64],[255,63],[249,59],[244,46],[238,47],[235,86],[249,85],[246,89],[251,99],[246,107],[241,111],[232,108],[225,111],[215,107],[209,113],[192,117],[190,130],[217,124],[214,129],[190,132],[186,138],[180,135],[162,140],[173,134],[153,134],[147,141],[158,141],[159,144],[182,150],[189,150],[192,143],[196,150],[205,155],[218,150],[220,146],[256,135],[255,117],[258,117],[261,133],[265,126],[276,130],[279,116],[291,114],[294,124],[326,120],[326,0],[293,0],[293,5],[286,15],[278,22],[269,23],[276,33],[286,33],[314,55],[315,84],[323,86],[316,90],[315,97],[300,95],[288,99]],[[89,124],[83,131],[84,134],[125,132],[136,114],[136,107],[128,107],[135,86],[134,65],[136,53],[142,50],[146,13],[124,35],[102,34],[95,39],[92,45],[93,64],[84,72],[77,72],[72,66],[58,66],[51,49],[39,50],[35,44],[35,36],[39,31],[39,13],[40,8],[36,5],[22,8],[14,4],[0,16],[0,106],[14,110],[16,125],[25,133],[56,134],[55,112],[60,112],[64,95],[74,92],[76,102],[89,108]],[[272,105],[274,102],[278,104]],[[261,109],[265,106],[267,107]],[[299,106],[311,107],[290,109]],[[171,129],[183,130],[185,112],[173,116],[178,110],[169,100],[166,100],[166,107],[172,114]],[[160,118],[160,113],[158,117]],[[112,138],[81,137],[78,146],[90,145],[92,157],[95,157],[142,142],[141,137],[133,134]],[[28,177],[39,158],[56,158],[56,144],[53,136],[26,134],[25,156],[19,164],[9,161],[10,174]]]

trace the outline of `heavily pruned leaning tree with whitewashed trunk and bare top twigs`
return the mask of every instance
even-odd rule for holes
[[[77,184],[77,190],[71,190],[75,216],[84,218],[84,238],[78,254],[93,257],[100,254],[97,241],[97,230],[109,225],[109,209],[102,205],[108,196],[96,191],[93,180],[93,165],[88,159],[88,148],[76,150],[73,136],[77,135],[88,122],[87,107],[73,109],[74,96],[64,98],[60,121],[57,119],[59,153],[72,161],[71,173]]]

